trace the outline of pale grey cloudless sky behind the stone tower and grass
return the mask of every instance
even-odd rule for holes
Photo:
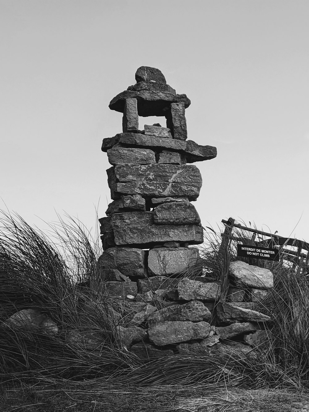
[[[122,131],[108,104],[145,65],[191,99],[188,139],[218,148],[196,163],[202,225],[309,241],[308,21],[308,0],[0,0],[0,208],[96,225],[101,142]]]

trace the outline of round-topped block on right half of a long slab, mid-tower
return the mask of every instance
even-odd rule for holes
[[[155,225],[199,225],[201,219],[196,208],[187,201],[171,202],[157,206],[154,211]]]

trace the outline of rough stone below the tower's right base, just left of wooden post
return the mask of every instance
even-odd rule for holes
[[[182,279],[178,284],[180,299],[184,300],[217,300],[220,297],[220,282],[199,282],[191,281],[188,278]]]

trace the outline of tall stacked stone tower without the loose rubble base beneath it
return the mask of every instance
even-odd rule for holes
[[[99,219],[104,280],[116,295],[133,296],[138,279],[171,276],[196,264],[199,251],[188,245],[203,243],[203,228],[191,201],[202,178],[192,163],[217,155],[215,147],[187,140],[191,102],[166,84],[160,70],[142,66],[135,78],[109,105],[123,113],[122,133],[103,139],[113,201]],[[166,127],[139,130],[139,116],[163,117]]]

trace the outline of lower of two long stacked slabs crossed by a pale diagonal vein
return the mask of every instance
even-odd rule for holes
[[[201,186],[201,183],[126,182],[111,185],[110,193],[112,199],[118,199],[122,194],[140,194],[144,197],[181,195],[195,201]]]

